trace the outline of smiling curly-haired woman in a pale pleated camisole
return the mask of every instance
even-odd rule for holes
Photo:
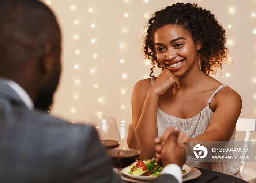
[[[153,158],[154,139],[168,127],[184,132],[180,145],[234,141],[241,97],[210,76],[229,62],[225,36],[215,16],[197,4],[176,3],[151,16],[144,52],[153,63],[152,78],[136,83],[132,94],[132,125],[142,160]],[[152,75],[156,65],[163,70],[157,78]],[[129,137],[127,142],[130,146]],[[241,162],[186,164],[242,178]]]

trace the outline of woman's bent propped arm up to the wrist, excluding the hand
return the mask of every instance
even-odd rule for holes
[[[141,80],[135,84],[132,92],[132,126],[139,136],[141,144],[140,159],[151,159],[155,155],[154,138],[157,135],[158,96],[150,91],[151,80]],[[130,135],[130,134],[129,134]],[[129,138],[128,146],[132,145]]]

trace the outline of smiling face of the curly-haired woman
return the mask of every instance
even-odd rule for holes
[[[192,68],[199,68],[197,50],[199,41],[193,42],[191,33],[177,25],[165,25],[154,34],[157,60],[164,69],[175,76],[182,76]]]

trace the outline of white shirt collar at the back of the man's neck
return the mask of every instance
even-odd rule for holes
[[[29,108],[29,110],[32,111],[34,109],[34,103],[32,99],[30,98],[29,94],[27,94],[27,92],[19,84],[15,83],[10,79],[3,79],[3,83],[10,86],[16,92],[20,99],[25,103],[27,108]]]

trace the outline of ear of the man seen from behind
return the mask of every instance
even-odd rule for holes
[[[40,71],[43,75],[52,71],[54,66],[52,43],[46,43],[41,46],[39,62]]]

